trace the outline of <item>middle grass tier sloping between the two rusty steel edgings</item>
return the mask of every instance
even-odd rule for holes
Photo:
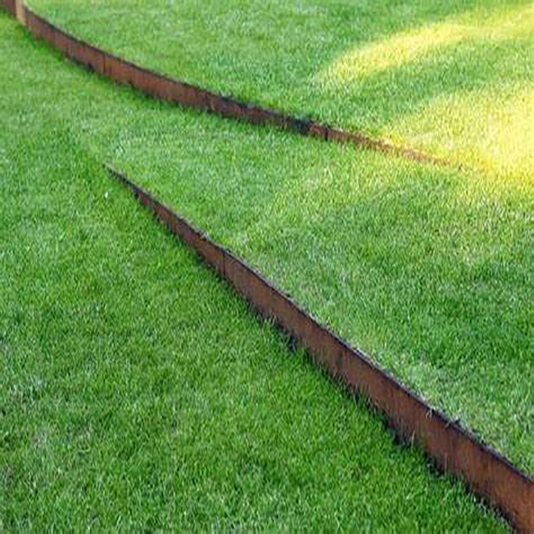
[[[131,172],[534,471],[531,181],[183,112],[60,69],[68,61],[49,49],[28,63],[25,48],[12,48],[4,83],[23,80],[24,91],[12,89],[3,105],[41,103],[83,150]],[[18,127],[6,126],[13,135]]]

